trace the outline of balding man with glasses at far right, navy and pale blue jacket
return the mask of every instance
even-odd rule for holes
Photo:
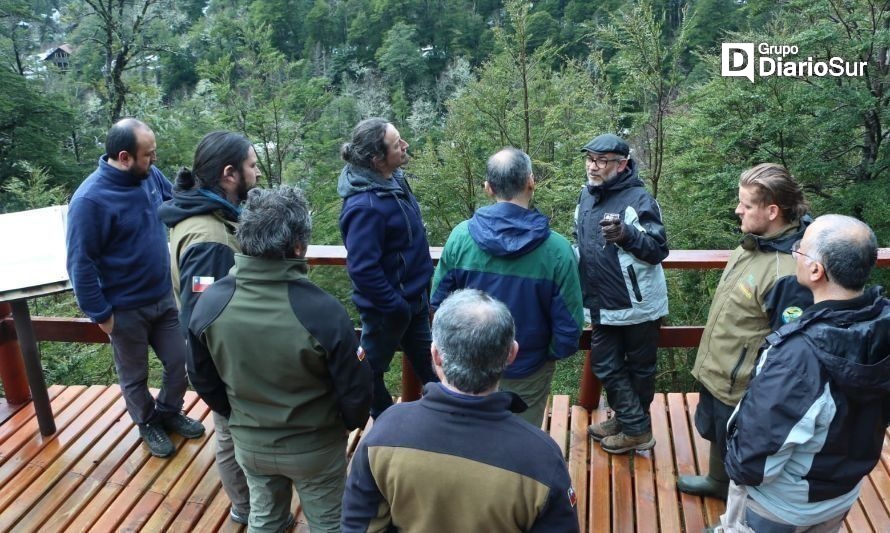
[[[890,300],[881,287],[865,288],[877,247],[865,223],[824,215],[792,248],[814,303],[766,338],[730,420],[727,508],[742,511],[724,525],[838,531],[880,460],[890,422]]]

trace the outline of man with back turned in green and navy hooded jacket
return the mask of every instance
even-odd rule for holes
[[[525,152],[504,148],[491,156],[484,188],[495,203],[451,232],[430,305],[436,309],[449,293],[464,288],[486,291],[507,305],[519,354],[500,388],[518,394],[528,405],[518,415],[540,426],[556,361],[578,351],[584,327],[578,262],[569,241],[529,207],[535,177]]]

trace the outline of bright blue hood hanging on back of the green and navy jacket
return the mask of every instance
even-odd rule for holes
[[[537,209],[497,202],[476,211],[467,224],[470,237],[485,253],[518,257],[550,237],[550,221]]]

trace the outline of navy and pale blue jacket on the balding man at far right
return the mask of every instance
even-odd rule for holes
[[[730,420],[726,471],[795,525],[845,512],[890,422],[890,300],[879,287],[812,305],[766,338]]]

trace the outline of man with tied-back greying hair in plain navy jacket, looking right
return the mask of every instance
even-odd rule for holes
[[[399,346],[422,383],[437,380],[429,360],[433,262],[420,206],[401,169],[408,143],[399,130],[382,118],[363,120],[341,156],[340,234],[362,319],[361,344],[373,370],[376,418],[392,405],[383,375]]]

